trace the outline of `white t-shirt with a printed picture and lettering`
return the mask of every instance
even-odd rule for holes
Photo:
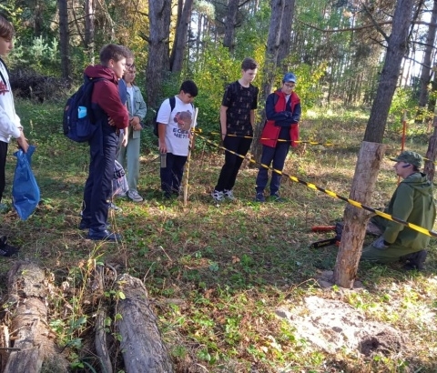
[[[189,129],[194,125],[194,107],[184,104],[175,96],[175,108],[170,112],[169,99],[159,107],[157,122],[166,125],[166,146],[168,153],[188,156]]]

